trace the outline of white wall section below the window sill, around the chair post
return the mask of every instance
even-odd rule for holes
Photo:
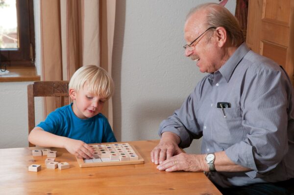
[[[27,92],[32,82],[0,82],[0,148],[28,146]],[[41,97],[36,98],[36,120],[40,121]]]

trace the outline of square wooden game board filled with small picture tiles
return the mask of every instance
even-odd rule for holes
[[[144,159],[140,153],[128,143],[90,144],[90,146],[95,150],[94,158],[76,157],[80,168],[144,164]]]

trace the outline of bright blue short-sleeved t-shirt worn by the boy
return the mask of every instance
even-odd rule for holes
[[[49,133],[87,144],[117,142],[106,117],[99,113],[89,119],[79,119],[74,115],[72,105],[57,108],[37,126]]]

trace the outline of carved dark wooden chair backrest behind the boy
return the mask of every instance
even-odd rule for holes
[[[68,84],[69,81],[35,81],[27,86],[28,133],[35,127],[34,97],[55,97],[55,108],[68,105]]]

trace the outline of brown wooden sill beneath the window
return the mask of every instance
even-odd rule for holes
[[[9,73],[0,74],[0,82],[38,81],[36,67],[7,67]]]

